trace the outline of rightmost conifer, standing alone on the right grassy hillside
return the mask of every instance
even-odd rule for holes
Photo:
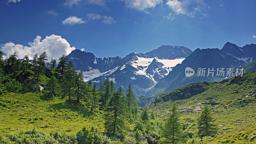
[[[214,124],[215,120],[213,119],[211,111],[207,105],[204,106],[197,122],[199,136],[208,137],[217,134],[217,127],[216,124]]]

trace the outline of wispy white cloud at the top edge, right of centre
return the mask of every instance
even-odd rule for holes
[[[207,16],[204,13],[204,9],[206,8],[204,0],[168,0],[166,5],[177,15],[195,17],[196,14],[199,14],[203,17]]]

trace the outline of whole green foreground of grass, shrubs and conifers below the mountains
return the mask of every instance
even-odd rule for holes
[[[97,89],[65,55],[46,60],[0,51],[0,143],[256,143],[256,71],[159,93],[143,109],[131,85]]]

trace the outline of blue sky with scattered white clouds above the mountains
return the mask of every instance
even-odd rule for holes
[[[98,58],[161,45],[221,49],[255,44],[255,17],[255,0],[2,0],[0,49],[53,58],[74,48]]]

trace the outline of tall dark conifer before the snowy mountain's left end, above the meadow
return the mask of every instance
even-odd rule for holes
[[[63,84],[62,84],[62,99],[68,96],[68,100],[71,101],[71,89],[74,87],[74,77],[76,74],[73,64],[70,61],[66,70],[63,72]]]

